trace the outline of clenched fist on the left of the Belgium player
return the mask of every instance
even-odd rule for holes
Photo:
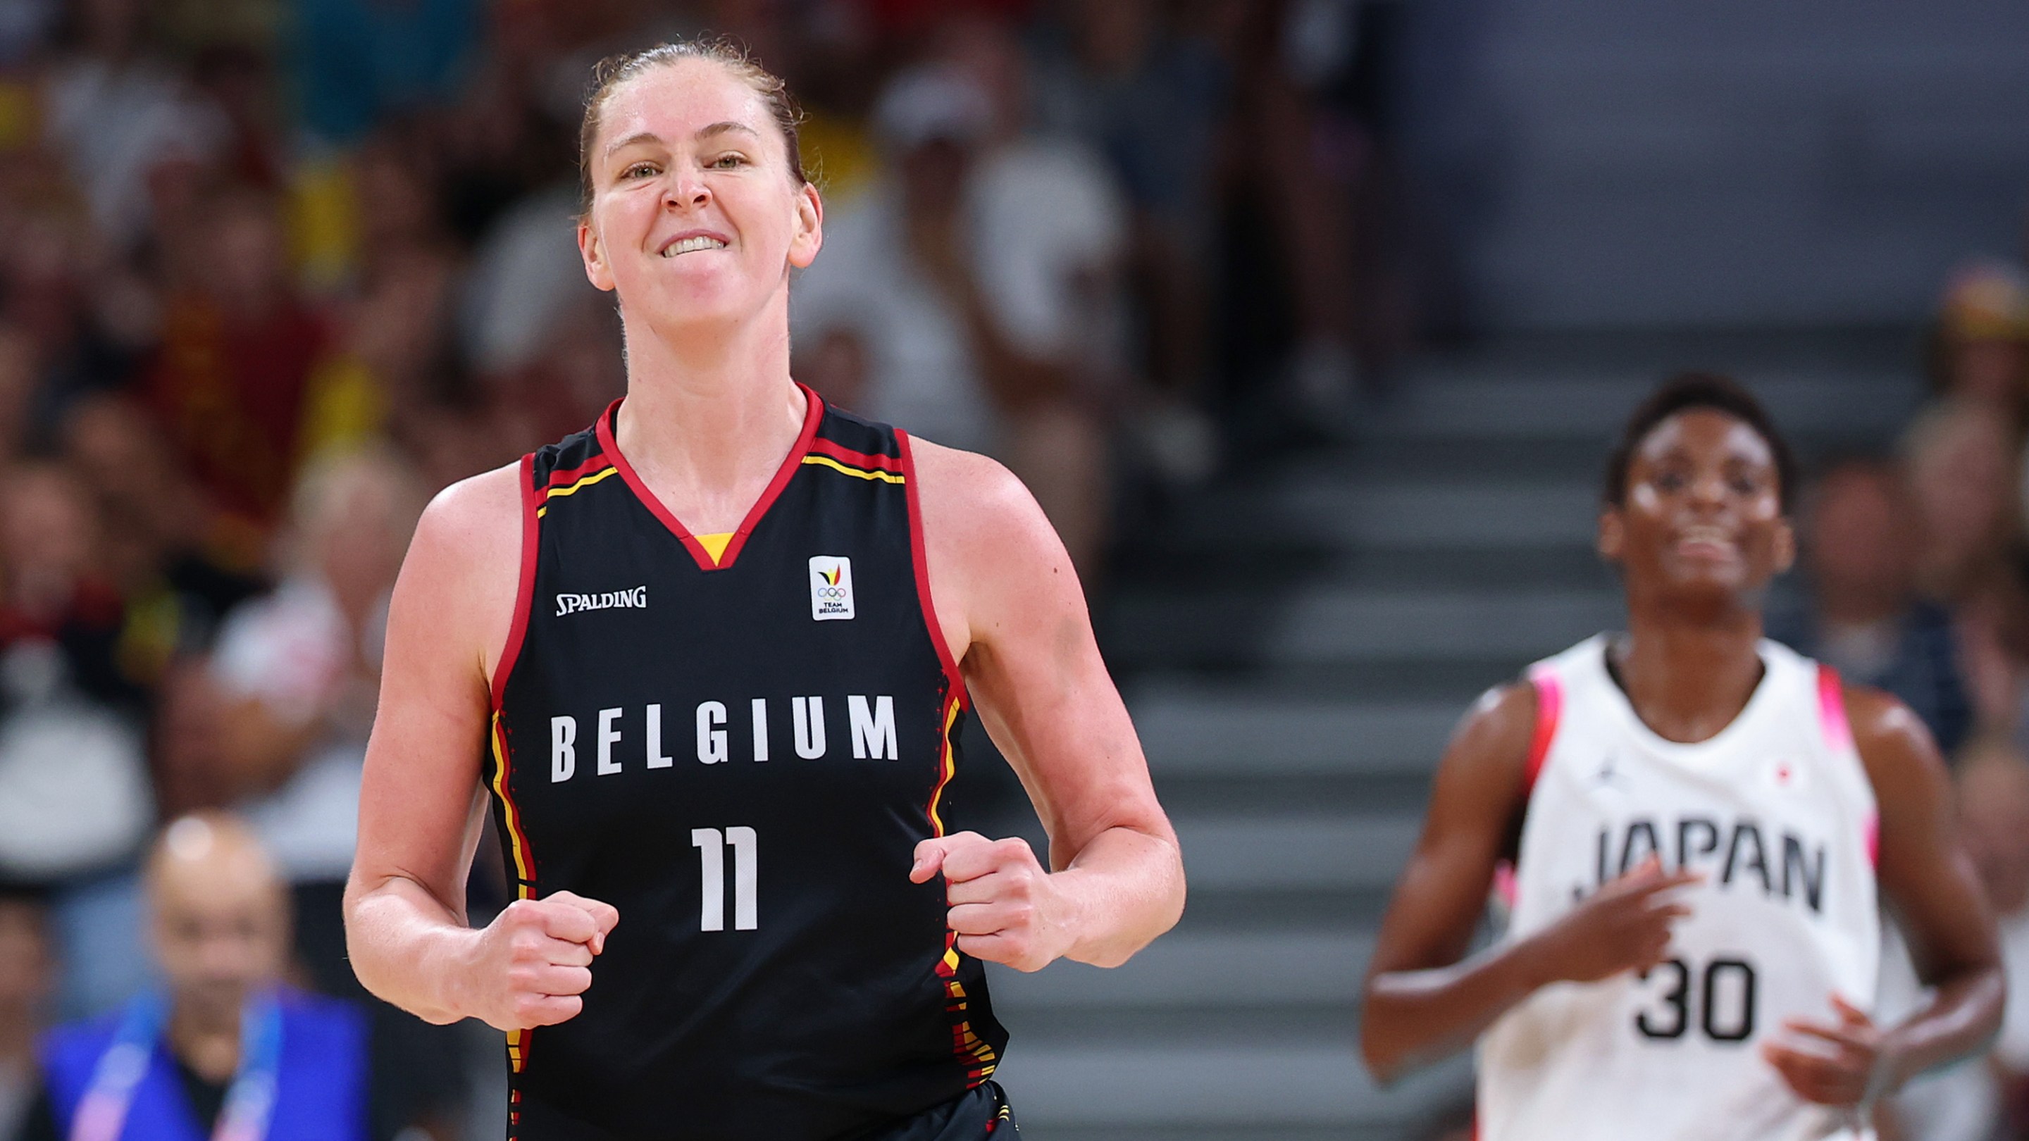
[[[584,1009],[592,958],[621,914],[611,903],[556,891],[515,899],[493,918],[463,970],[465,1013],[493,1029],[568,1021]]]

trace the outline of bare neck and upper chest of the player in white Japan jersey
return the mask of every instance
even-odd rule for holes
[[[1635,715],[1666,741],[1704,741],[1747,709],[1761,684],[1761,611],[1680,615],[1629,607],[1627,637],[1607,654]]]

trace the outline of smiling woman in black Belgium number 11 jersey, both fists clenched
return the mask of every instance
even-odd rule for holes
[[[789,380],[822,205],[777,79],[700,45],[619,61],[580,158],[627,396],[416,532],[353,964],[509,1031],[513,1137],[1012,1133],[980,962],[1118,964],[1183,908],[1071,564],[1000,465]],[[946,834],[972,715],[1047,867]],[[471,930],[483,810],[517,899]]]

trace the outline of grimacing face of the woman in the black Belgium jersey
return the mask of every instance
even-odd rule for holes
[[[607,97],[588,162],[578,250],[629,321],[728,325],[775,303],[787,315],[789,268],[816,258],[824,209],[753,87],[702,59],[637,75]]]

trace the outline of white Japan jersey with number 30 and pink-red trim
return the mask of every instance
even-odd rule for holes
[[[1658,737],[1607,674],[1605,635],[1536,664],[1532,790],[1506,938],[1658,855],[1704,881],[1668,960],[1554,983],[1479,1042],[1485,1141],[1804,1141],[1873,1133],[1798,1098],[1759,1052],[1783,1019],[1871,1009],[1881,956],[1875,794],[1838,676],[1773,642],[1747,709],[1696,745]]]

